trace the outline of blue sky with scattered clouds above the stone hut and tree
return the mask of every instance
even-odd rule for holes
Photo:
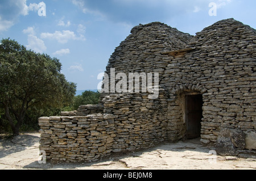
[[[209,15],[211,2],[216,16]],[[162,22],[195,35],[234,18],[256,29],[255,7],[255,0],[0,0],[0,37],[59,58],[77,90],[97,89],[97,75],[139,23]]]

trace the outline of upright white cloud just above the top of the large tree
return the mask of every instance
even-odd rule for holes
[[[46,51],[46,45],[44,44],[44,41],[39,39],[36,36],[36,33],[34,31],[34,27],[28,27],[26,30],[23,30],[23,33],[28,34],[27,41],[28,45],[26,46],[27,49],[34,50],[37,53],[43,53]]]

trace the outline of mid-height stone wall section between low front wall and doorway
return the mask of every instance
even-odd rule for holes
[[[148,94],[140,93],[105,96],[102,102],[106,113],[118,116],[115,119],[115,151],[149,148],[167,140],[167,121],[164,115],[167,102],[162,102],[162,98],[161,91],[155,100],[148,99]]]

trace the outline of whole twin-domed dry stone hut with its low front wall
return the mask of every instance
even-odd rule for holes
[[[256,31],[237,20],[221,20],[196,36],[159,22],[140,24],[106,66],[104,80],[115,87],[102,86],[108,91],[100,103],[81,106],[75,116],[41,117],[40,149],[58,162],[197,137],[223,155],[255,150],[255,65]],[[139,91],[129,73],[141,76]],[[150,86],[143,83],[148,75],[154,75]]]

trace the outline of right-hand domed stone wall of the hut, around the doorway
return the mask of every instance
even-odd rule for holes
[[[185,92],[203,94],[201,141],[205,144],[216,142],[224,128],[256,129],[255,43],[253,28],[228,19],[197,33],[189,43],[193,50],[184,57],[170,56],[160,85],[177,99],[170,110],[181,106],[179,96]],[[182,109],[177,110],[173,116],[180,115],[183,121]]]

